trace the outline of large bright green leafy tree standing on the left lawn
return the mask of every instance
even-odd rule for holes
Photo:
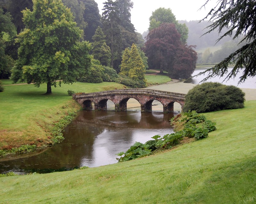
[[[52,93],[56,80],[73,83],[90,67],[90,45],[79,42],[83,31],[61,0],[33,0],[33,11],[23,11],[25,29],[18,35],[19,58],[12,69],[12,80],[47,83]],[[59,85],[61,81],[59,82]]]

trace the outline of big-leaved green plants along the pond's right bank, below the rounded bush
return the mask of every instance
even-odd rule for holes
[[[169,149],[180,143],[184,137],[195,138],[197,140],[208,137],[208,133],[216,130],[216,123],[211,120],[206,120],[204,115],[189,111],[182,113],[172,118],[171,122],[185,122],[184,128],[176,133],[166,134],[163,137],[155,135],[151,137],[154,140],[149,140],[145,144],[135,142],[126,152],[120,152],[116,158],[119,162],[124,162],[144,156],[148,156],[157,149]],[[196,125],[200,124],[200,126]]]

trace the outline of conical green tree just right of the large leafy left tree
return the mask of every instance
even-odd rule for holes
[[[96,29],[92,36],[92,55],[104,66],[110,66],[111,50],[106,44],[106,36],[104,35],[100,26]]]

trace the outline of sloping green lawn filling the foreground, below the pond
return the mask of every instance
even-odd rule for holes
[[[0,203],[256,203],[255,106],[206,113],[208,138],[149,157],[0,178]]]

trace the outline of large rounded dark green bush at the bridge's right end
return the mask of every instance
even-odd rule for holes
[[[244,92],[235,87],[217,82],[198,84],[185,96],[183,111],[198,113],[244,107]]]

